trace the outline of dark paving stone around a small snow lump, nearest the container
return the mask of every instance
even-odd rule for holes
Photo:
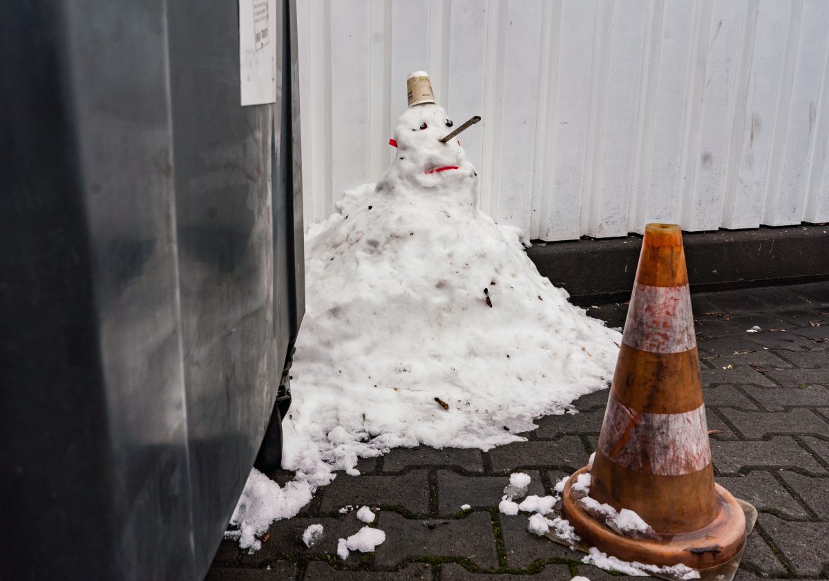
[[[308,526],[322,525],[323,536],[318,545],[309,549],[303,542],[303,532]],[[346,538],[359,531],[366,523],[357,520],[356,511],[339,517],[313,518],[294,516],[274,521],[268,528],[268,540],[262,540],[262,548],[255,553],[244,553],[241,564],[256,566],[274,559],[292,558],[301,555],[337,555],[337,539]]]

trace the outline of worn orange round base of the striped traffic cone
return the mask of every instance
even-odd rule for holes
[[[570,485],[584,468],[576,471],[565,485],[562,517],[570,521],[584,545],[594,546],[608,555],[643,564],[685,564],[705,570],[725,564],[739,555],[745,545],[746,521],[743,508],[725,488],[715,484],[717,516],[708,526],[681,535],[658,535],[657,539],[638,539],[619,535],[596,521],[570,497]]]

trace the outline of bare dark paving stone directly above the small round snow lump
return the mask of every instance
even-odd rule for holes
[[[321,492],[322,512],[338,511],[347,504],[403,507],[419,514],[429,511],[429,483],[425,470],[412,470],[401,475],[341,474]]]

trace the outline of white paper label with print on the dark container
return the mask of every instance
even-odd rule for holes
[[[239,77],[242,105],[276,103],[276,0],[239,0]]]

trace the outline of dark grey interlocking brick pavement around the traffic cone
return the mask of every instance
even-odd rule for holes
[[[827,579],[829,283],[696,294],[692,302],[708,424],[721,430],[711,436],[716,479],[759,510],[737,579]],[[625,306],[589,312],[618,326]],[[745,332],[754,325],[762,330]],[[510,472],[529,473],[529,493],[541,495],[584,465],[607,396],[582,397],[580,413],[541,418],[526,442],[487,453],[421,447],[364,459],[360,477],[337,476],[299,516],[274,522],[259,552],[224,541],[207,579],[611,579],[527,533],[527,515],[497,511]],[[379,509],[385,543],[337,559],[337,539],[362,526],[354,511],[338,510],[363,504]],[[301,536],[313,523],[325,538],[308,550]]]

